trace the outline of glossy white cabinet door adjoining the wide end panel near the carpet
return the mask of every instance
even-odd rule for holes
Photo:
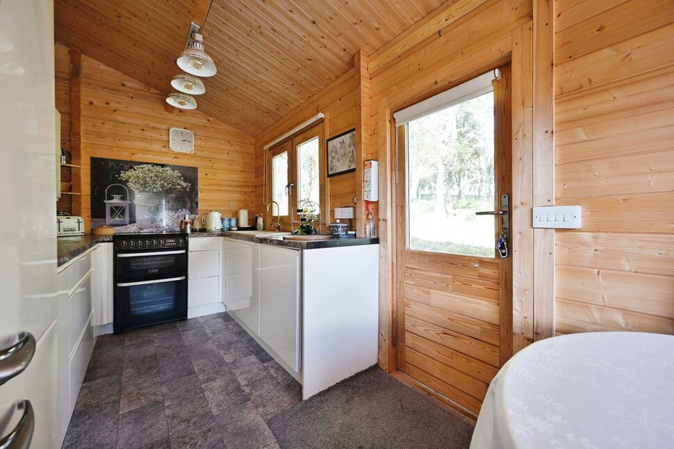
[[[263,246],[260,250],[260,338],[299,372],[299,251]]]

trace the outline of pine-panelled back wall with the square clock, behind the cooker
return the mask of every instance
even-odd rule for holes
[[[58,49],[57,65],[61,53],[63,49]],[[57,99],[65,95],[65,83],[58,82],[60,72],[57,69]],[[241,208],[254,211],[252,137],[199,111],[168,113],[160,92],[86,56],[81,97],[82,215],[88,227],[91,157],[197,167],[199,213],[215,209],[236,216]],[[169,151],[171,126],[195,132],[195,154]]]

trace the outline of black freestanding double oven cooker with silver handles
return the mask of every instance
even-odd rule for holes
[[[114,332],[187,319],[188,236],[120,234],[114,245]]]

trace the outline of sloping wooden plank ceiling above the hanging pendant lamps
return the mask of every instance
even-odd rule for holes
[[[208,2],[209,0],[206,0]],[[199,111],[256,136],[447,0],[213,0]],[[450,0],[452,1],[452,0]],[[55,0],[55,37],[169,92],[204,0]]]

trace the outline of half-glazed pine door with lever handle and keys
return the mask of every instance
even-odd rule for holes
[[[511,194],[509,68],[493,92],[396,129],[397,369],[472,414],[511,354],[500,215],[475,215]]]

